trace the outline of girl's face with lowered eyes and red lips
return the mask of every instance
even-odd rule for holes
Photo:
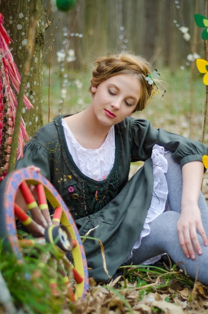
[[[134,76],[116,75],[91,87],[92,107],[97,119],[104,125],[117,124],[130,116],[140,96],[141,85]]]

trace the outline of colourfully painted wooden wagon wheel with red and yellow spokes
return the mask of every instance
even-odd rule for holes
[[[18,205],[20,196],[27,203],[27,213]],[[24,262],[25,247],[30,249],[35,243],[50,243],[53,248],[50,254],[59,265],[57,271],[66,284],[69,298],[73,301],[83,298],[88,290],[84,247],[74,219],[54,186],[35,171],[22,168],[3,180],[0,199],[0,237],[3,239],[3,248]],[[19,236],[17,219],[29,237]],[[44,263],[50,254],[45,254]]]

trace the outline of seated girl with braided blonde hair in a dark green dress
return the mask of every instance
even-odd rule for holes
[[[89,107],[43,126],[17,168],[39,167],[80,234],[100,239],[106,265],[99,242],[84,242],[97,282],[107,282],[124,263],[150,263],[168,253],[208,284],[208,210],[200,192],[208,148],[131,117],[157,87],[150,73],[133,54],[96,60]],[[145,163],[128,181],[135,161]]]

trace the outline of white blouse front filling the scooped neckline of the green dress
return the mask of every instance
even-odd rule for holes
[[[82,147],[64,119],[62,126],[68,149],[79,170],[87,177],[102,181],[110,174],[115,160],[115,130],[114,125],[110,128],[104,143],[97,149]]]

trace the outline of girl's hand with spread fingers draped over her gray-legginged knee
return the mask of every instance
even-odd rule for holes
[[[202,237],[203,244],[208,246],[208,239],[202,225],[198,204],[188,202],[182,207],[180,218],[177,223],[179,242],[187,258],[194,259],[196,253],[198,255],[202,254],[196,231],[198,231]]]

